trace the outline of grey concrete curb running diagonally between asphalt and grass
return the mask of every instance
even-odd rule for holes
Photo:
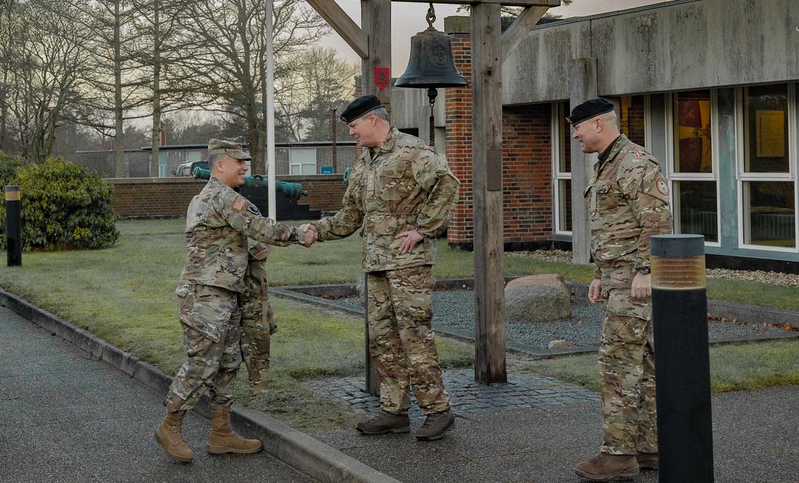
[[[0,289],[0,305],[17,312],[48,332],[74,344],[83,351],[136,379],[153,390],[166,393],[172,378],[161,369],[117,348],[58,316],[30,304],[27,300]],[[207,395],[195,406],[195,411],[209,417],[211,408]],[[233,426],[256,435],[264,442],[264,450],[300,472],[327,483],[400,483],[353,457],[334,450],[307,434],[278,421],[267,414],[238,404],[231,411]]]

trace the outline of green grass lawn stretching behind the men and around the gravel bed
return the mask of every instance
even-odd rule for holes
[[[22,267],[0,269],[0,287],[174,374],[184,359],[177,298],[173,295],[185,260],[184,226],[185,221],[180,219],[125,221],[118,223],[121,238],[109,249],[26,252]],[[473,275],[472,253],[450,250],[444,240],[438,241],[437,247],[436,277]],[[357,235],[310,249],[297,245],[276,248],[268,261],[269,280],[272,285],[355,281],[360,275],[360,249]],[[572,281],[589,281],[593,273],[589,265],[529,257],[506,257],[505,271],[562,273]],[[710,280],[709,285],[712,298],[799,309],[799,289],[745,281]],[[272,344],[272,391],[252,398],[241,371],[237,400],[299,429],[352,423],[353,414],[346,407],[334,399],[313,395],[302,382],[324,375],[359,374],[363,370],[363,323],[287,300],[273,303],[280,331]],[[749,385],[749,379],[757,379],[762,385],[797,383],[799,344],[751,344],[752,349],[743,349],[747,347],[711,350],[717,361],[714,387],[755,387]],[[470,367],[473,363],[469,344],[440,340],[439,348],[445,367]],[[718,359],[725,351],[729,355]],[[783,352],[789,355],[783,356]],[[573,363],[575,359],[579,358],[536,362],[525,370],[560,371],[562,375],[553,375],[590,386],[590,379],[596,377],[595,357],[586,358],[585,363]],[[740,369],[733,370],[738,366]]]

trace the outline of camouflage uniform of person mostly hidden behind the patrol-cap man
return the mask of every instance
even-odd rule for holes
[[[270,337],[277,331],[275,312],[269,304],[266,257],[269,245],[256,243],[249,249],[244,295],[241,297],[241,357],[247,367],[252,394],[266,389],[269,374]]]

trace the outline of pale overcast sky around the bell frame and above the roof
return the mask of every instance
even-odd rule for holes
[[[360,0],[336,0],[336,2],[360,25]],[[562,15],[564,18],[583,17],[653,3],[664,2],[663,0],[574,0],[570,6],[559,6],[550,11],[553,14]],[[445,17],[465,15],[458,14],[457,10],[458,6],[435,5],[435,28],[443,30]],[[411,49],[411,37],[415,33],[427,29],[425,14],[427,14],[427,3],[392,2],[392,77],[400,77],[405,72],[407,57]],[[360,64],[360,57],[341,40],[338,33],[331,33],[322,44],[335,48],[339,51],[340,56],[348,61]]]

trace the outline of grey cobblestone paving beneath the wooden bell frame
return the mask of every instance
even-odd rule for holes
[[[444,371],[444,387],[456,414],[495,413],[600,399],[597,393],[582,387],[539,375],[508,375],[507,379],[505,384],[483,386],[475,383],[475,372],[471,369]],[[353,410],[380,410],[380,399],[364,392],[363,377],[317,379],[306,383],[306,387],[320,395],[343,399]],[[422,418],[412,396],[409,414],[411,418]]]

